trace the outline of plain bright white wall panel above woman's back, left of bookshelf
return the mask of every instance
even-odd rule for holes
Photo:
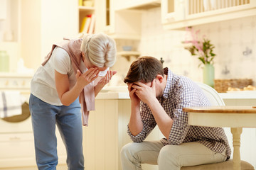
[[[41,2],[41,59],[54,42],[78,35],[78,1],[43,0]]]

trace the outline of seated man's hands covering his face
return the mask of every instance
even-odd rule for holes
[[[156,79],[149,84],[136,82],[128,84],[129,96],[133,104],[138,105],[139,101],[148,104],[156,99]]]

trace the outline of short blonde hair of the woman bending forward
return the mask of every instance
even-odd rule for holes
[[[116,61],[116,44],[104,33],[83,35],[80,50],[97,67],[112,67]]]

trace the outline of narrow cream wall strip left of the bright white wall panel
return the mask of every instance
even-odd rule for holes
[[[19,32],[21,58],[28,68],[37,67],[41,52],[41,8],[40,1],[21,1],[21,31]],[[33,8],[31,8],[33,6]],[[17,62],[17,61],[16,61]],[[16,65],[16,64],[15,64]]]

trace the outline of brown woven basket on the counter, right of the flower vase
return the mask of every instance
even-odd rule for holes
[[[215,79],[214,89],[219,93],[228,91],[228,87],[244,88],[245,86],[252,85],[252,79]]]

